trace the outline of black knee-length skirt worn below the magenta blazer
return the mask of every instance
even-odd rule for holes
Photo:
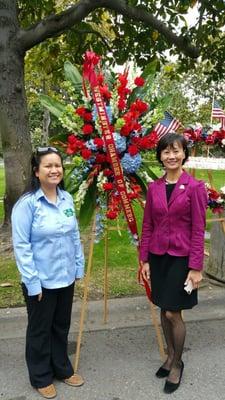
[[[188,257],[149,254],[152,302],[165,311],[190,309],[198,304],[198,291],[187,294]]]

